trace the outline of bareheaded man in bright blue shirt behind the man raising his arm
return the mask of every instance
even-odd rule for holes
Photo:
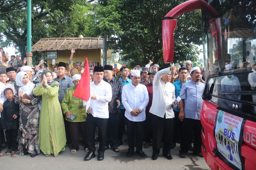
[[[187,75],[188,75],[188,69],[185,67],[181,67],[179,69],[180,80],[173,83],[173,85],[175,87],[176,99],[178,96],[180,96],[182,85],[184,83],[188,82]],[[174,115],[175,115],[175,117],[174,117],[174,136],[173,136],[173,143],[172,143],[171,148],[174,148],[176,146],[176,142],[180,141],[180,137],[181,137],[180,136],[181,135],[181,121],[179,120],[180,109],[179,109],[179,107],[175,107],[173,109],[173,111],[174,111]]]

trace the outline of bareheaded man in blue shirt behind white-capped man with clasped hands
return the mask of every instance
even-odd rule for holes
[[[131,83],[131,79],[128,78],[128,75],[130,73],[129,68],[124,65],[120,68],[120,73],[121,73],[121,77],[119,80],[122,81],[123,86],[130,84]],[[123,145],[123,132],[124,132],[124,120],[125,120],[125,108],[122,104],[122,102],[120,103],[120,115],[119,115],[119,124],[118,124],[118,142],[117,142],[117,147],[119,147],[120,145]]]

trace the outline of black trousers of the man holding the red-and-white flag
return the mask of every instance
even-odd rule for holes
[[[89,151],[96,151],[95,148],[95,130],[98,127],[99,131],[99,149],[98,153],[104,153],[106,139],[107,139],[107,129],[108,129],[108,118],[98,118],[93,117],[93,115],[88,114],[86,118],[86,128],[87,128],[87,141]]]

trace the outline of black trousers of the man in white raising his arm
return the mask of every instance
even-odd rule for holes
[[[170,154],[174,118],[166,119],[153,115],[151,117],[152,124],[152,136],[153,136],[153,155],[158,155],[161,148],[161,142],[163,142],[163,154]]]

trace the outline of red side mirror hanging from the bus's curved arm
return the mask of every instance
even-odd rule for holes
[[[174,57],[174,30],[177,25],[175,19],[165,19],[162,23],[163,60],[165,63],[173,62]]]

